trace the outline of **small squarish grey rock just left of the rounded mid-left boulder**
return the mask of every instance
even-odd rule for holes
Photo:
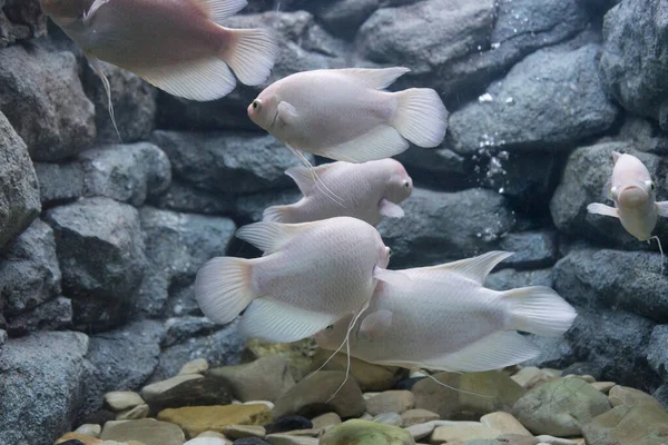
[[[84,171],[79,162],[35,162],[42,206],[52,207],[84,196]]]

